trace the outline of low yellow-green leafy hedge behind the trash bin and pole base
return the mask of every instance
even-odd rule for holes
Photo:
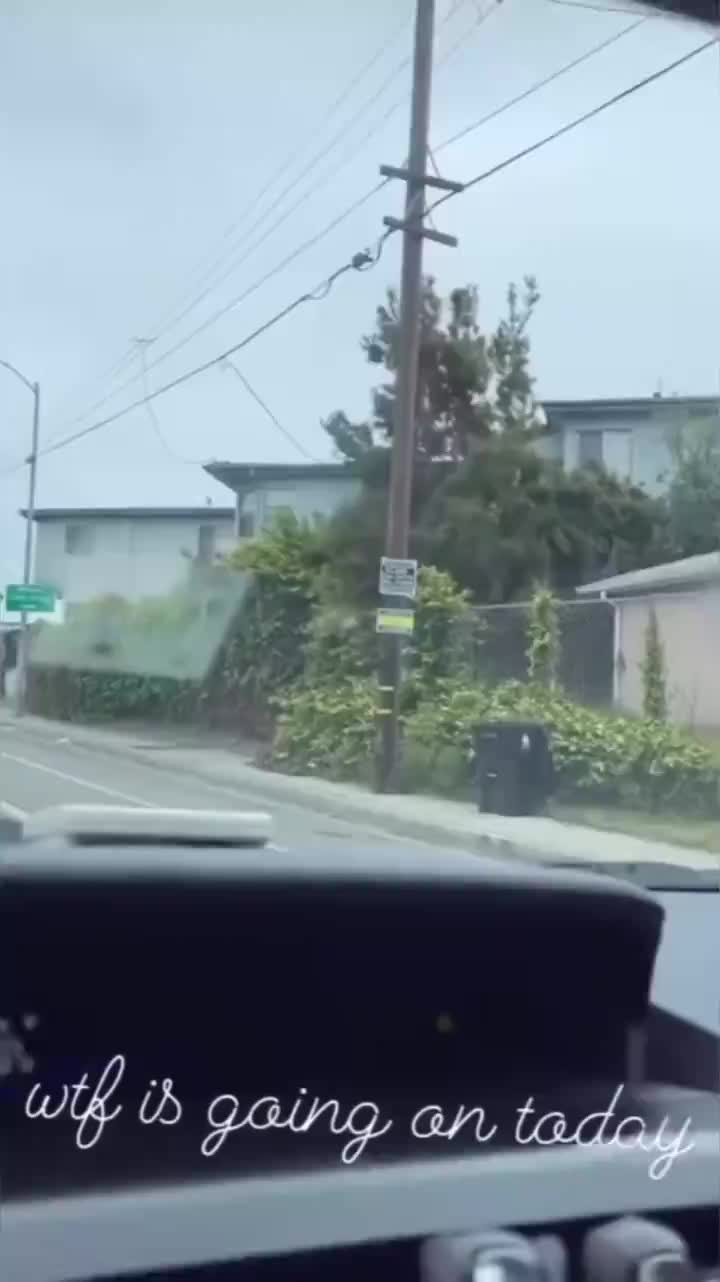
[[[528,718],[551,733],[559,795],[693,815],[719,813],[717,765],[705,745],[661,722],[574,704],[523,682],[492,690],[439,681],[404,724],[404,786],[469,795],[473,731]],[[372,681],[304,687],[286,700],[272,760],[297,773],[368,777],[378,729]]]

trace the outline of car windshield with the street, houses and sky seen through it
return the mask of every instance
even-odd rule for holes
[[[719,55],[669,8],[3,8],[5,818],[717,867]]]

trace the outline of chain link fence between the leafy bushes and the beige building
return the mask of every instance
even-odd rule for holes
[[[610,706],[614,690],[614,610],[609,601],[557,601],[560,687],[582,704]],[[462,624],[462,660],[475,681],[528,677],[530,605],[484,605]]]

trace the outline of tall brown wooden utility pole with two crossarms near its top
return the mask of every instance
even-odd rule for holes
[[[406,183],[405,218],[384,219],[386,227],[402,231],[400,351],[386,531],[386,556],[393,560],[407,559],[423,305],[423,240],[457,245],[454,236],[443,236],[424,226],[425,187],[439,187],[443,191],[462,190],[461,183],[447,182],[427,173],[433,28],[434,0],[416,0],[407,167],[400,169],[393,165],[380,165],[383,177],[401,178]],[[384,596],[383,605],[402,608],[407,605],[407,597]],[[397,765],[402,635],[383,635],[380,646],[382,732],[375,787],[379,792],[387,792],[392,790]]]

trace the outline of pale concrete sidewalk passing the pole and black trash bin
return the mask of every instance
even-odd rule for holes
[[[359,826],[432,845],[537,859],[580,859],[620,863],[669,862],[687,868],[717,868],[702,850],[644,841],[548,818],[479,814],[471,803],[418,795],[378,796],[352,783],[331,783],[275,774],[252,764],[252,746],[228,736],[186,727],[96,728],[40,717],[18,719],[0,709],[0,727],[17,727],[55,745],[74,744],[138,762],[149,769],[172,769],[196,779],[252,792],[272,813],[273,801],[301,805]]]

